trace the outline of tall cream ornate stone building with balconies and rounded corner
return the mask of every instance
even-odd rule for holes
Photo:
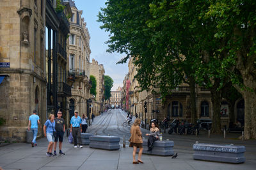
[[[89,114],[90,98],[90,34],[84,22],[83,11],[77,9],[74,1],[68,0],[72,9],[70,17],[70,36],[68,40],[68,82],[72,83],[72,97],[68,98],[68,120],[74,111]],[[69,121],[68,121],[69,123]]]

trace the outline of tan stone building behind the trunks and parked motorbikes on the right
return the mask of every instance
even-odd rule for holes
[[[123,99],[124,109],[137,113],[139,118],[149,123],[153,118],[163,120],[164,117],[170,117],[171,120],[179,118],[179,120],[191,121],[190,112],[190,91],[188,84],[180,84],[177,88],[172,89],[172,93],[166,96],[162,101],[159,89],[155,88],[154,93],[150,91],[140,91],[140,84],[134,79],[136,75],[136,67],[129,60],[129,72],[125,76],[123,82]],[[129,87],[127,87],[129,86]],[[212,103],[211,93],[208,89],[196,86],[196,117],[202,119],[212,118]],[[145,113],[145,108],[147,112]],[[233,112],[230,108],[233,107]],[[221,102],[221,127],[228,127],[230,121],[239,121],[244,124],[244,100],[243,98],[237,99],[234,105],[228,104],[227,100],[223,98]]]

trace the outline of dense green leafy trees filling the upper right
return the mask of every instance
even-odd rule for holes
[[[141,89],[165,96],[182,82],[209,88],[214,132],[222,89],[232,82],[244,98],[249,139],[256,137],[255,7],[245,0],[109,0],[99,22],[109,31],[108,51],[127,54],[118,63],[134,56]]]

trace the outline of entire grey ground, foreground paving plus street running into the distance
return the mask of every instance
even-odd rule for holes
[[[237,139],[222,139],[220,135],[212,135],[210,139],[206,134],[169,135],[163,134],[163,139],[174,141],[174,151],[177,158],[142,155],[145,164],[132,164],[132,148],[129,148],[130,127],[122,127],[127,114],[120,109],[104,112],[103,116],[95,117],[88,132],[97,135],[116,135],[121,137],[120,150],[98,150],[84,146],[74,148],[69,144],[65,135],[63,152],[66,155],[47,157],[47,139],[38,139],[38,146],[31,148],[30,143],[12,143],[0,145],[0,167],[3,169],[255,169],[256,151],[255,140],[241,141]],[[134,121],[134,118],[133,118]],[[141,129],[143,136],[148,130]],[[122,137],[125,135],[126,147],[122,148]],[[237,134],[228,134],[227,138]],[[220,162],[207,162],[193,159],[192,144],[221,143],[240,144],[246,146],[246,162],[244,164],[225,164]],[[3,145],[3,146],[2,146]],[[144,148],[147,149],[147,148]],[[58,153],[58,149],[57,149]],[[136,156],[137,157],[137,156]]]

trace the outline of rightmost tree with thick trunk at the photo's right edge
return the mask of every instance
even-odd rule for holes
[[[244,98],[244,138],[256,138],[256,1],[211,1],[207,17],[217,22],[215,37],[226,40],[221,68]],[[236,72],[239,72],[237,74]]]

